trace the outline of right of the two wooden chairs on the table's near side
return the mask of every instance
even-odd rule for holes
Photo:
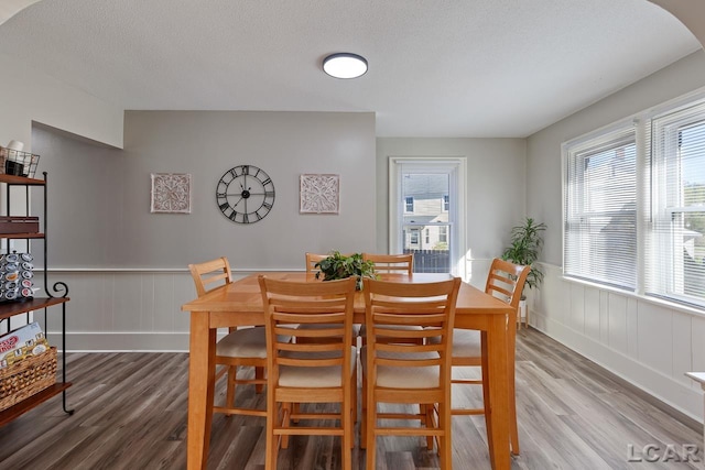
[[[435,438],[441,468],[449,469],[451,341],[460,280],[406,284],[365,278],[364,283],[367,345],[361,352],[360,442],[367,448],[367,469],[376,468],[377,436],[388,435],[425,436],[429,449]],[[440,340],[426,343],[431,337]],[[417,404],[420,409],[380,413],[378,403]],[[417,419],[423,426],[382,426],[380,419]]]

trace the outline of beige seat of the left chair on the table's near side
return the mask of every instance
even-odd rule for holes
[[[295,357],[306,359],[330,359],[332,357],[339,357],[339,354],[330,356],[329,352],[307,352],[302,354],[296,353],[282,353],[282,357]],[[357,361],[357,350],[351,348],[350,354],[350,372],[356,371],[355,363]],[[280,365],[279,368],[279,386],[285,386],[291,389],[327,389],[341,386],[340,383],[340,367],[329,365],[319,368],[304,368],[294,365]]]

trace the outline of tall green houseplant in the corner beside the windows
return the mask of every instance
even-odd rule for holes
[[[511,244],[502,253],[502,260],[531,266],[531,272],[527,277],[527,285],[530,288],[538,287],[543,281],[543,272],[539,269],[536,261],[543,248],[545,229],[545,223],[536,223],[531,217],[527,217],[521,226],[512,227]]]

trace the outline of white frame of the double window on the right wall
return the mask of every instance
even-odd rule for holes
[[[657,129],[655,123],[661,119],[668,118],[670,114],[676,114],[681,111],[687,113],[692,110],[695,118],[691,123],[683,123],[680,120],[680,125],[675,125],[672,135],[665,135],[660,132],[662,130]],[[687,116],[687,114],[686,114]],[[608,291],[616,291],[623,294],[632,294],[639,298],[650,299],[658,303],[666,303],[673,307],[703,313],[705,309],[705,294],[699,294],[702,289],[692,289],[690,294],[682,295],[677,292],[677,283],[681,282],[683,292],[686,292],[684,286],[688,286],[686,282],[679,281],[680,277],[686,276],[685,262],[682,260],[681,253],[685,247],[685,241],[682,236],[683,227],[680,231],[677,227],[673,226],[674,214],[687,214],[687,212],[705,212],[705,208],[696,206],[698,208],[688,207],[688,203],[681,200],[681,204],[674,204],[674,194],[680,194],[680,197],[685,197],[685,179],[672,177],[672,181],[666,181],[664,170],[666,165],[659,161],[658,145],[664,142],[679,142],[677,132],[685,129],[687,125],[699,125],[705,123],[705,87],[694,92],[687,94],[683,97],[670,100],[665,103],[661,103],[653,108],[632,114],[629,118],[619,120],[612,124],[588,132],[582,136],[572,139],[562,144],[561,147],[561,164],[562,164],[562,241],[563,241],[563,277],[567,281],[586,283],[588,285],[595,285]],[[566,273],[566,206],[570,204],[568,197],[568,149],[571,146],[589,144],[590,140],[597,140],[604,138],[610,132],[616,132],[620,128],[633,127],[636,133],[636,287],[633,291],[625,289],[623,287],[616,286],[610,283],[606,283],[598,278],[579,277]],[[705,171],[705,136],[698,135],[696,141],[697,150],[694,153],[697,165],[702,165]],[[680,146],[677,149],[671,149],[671,155],[677,155],[677,159],[682,159],[680,155]],[[701,163],[702,162],[702,163]],[[681,165],[682,163],[675,163]],[[680,173],[675,173],[680,174]],[[674,184],[673,182],[677,182]],[[693,184],[693,181],[691,181]],[[696,185],[701,185],[699,181],[695,181]],[[705,187],[705,183],[703,183]],[[698,201],[698,199],[695,199]],[[693,203],[690,203],[693,205]],[[697,203],[699,204],[699,201]],[[705,214],[703,215],[705,217]],[[666,220],[668,219],[668,220]],[[664,222],[665,221],[665,222]],[[658,225],[661,225],[658,227]],[[660,232],[659,232],[660,230]],[[670,232],[670,234],[669,234]],[[705,237],[705,231],[702,231]],[[659,239],[660,236],[660,239]],[[675,251],[674,251],[675,250]],[[702,248],[701,248],[702,250]],[[677,253],[676,253],[677,251]],[[675,253],[675,254],[674,254]],[[665,271],[666,275],[663,275],[663,266],[668,256],[672,258],[672,263],[669,264],[669,269]],[[680,260],[680,261],[679,261]],[[679,264],[680,262],[680,264]],[[691,266],[691,275],[693,276],[693,267]],[[655,274],[654,274],[655,273]],[[654,277],[659,277],[654,281]],[[698,264],[695,269],[695,277],[691,277],[705,284],[705,261]],[[654,283],[660,283],[655,285]],[[698,294],[693,294],[693,292]]]

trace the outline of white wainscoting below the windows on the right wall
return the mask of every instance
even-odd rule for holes
[[[685,372],[705,371],[705,311],[566,281],[543,264],[530,294],[531,325],[662,402],[703,420],[699,385]]]

